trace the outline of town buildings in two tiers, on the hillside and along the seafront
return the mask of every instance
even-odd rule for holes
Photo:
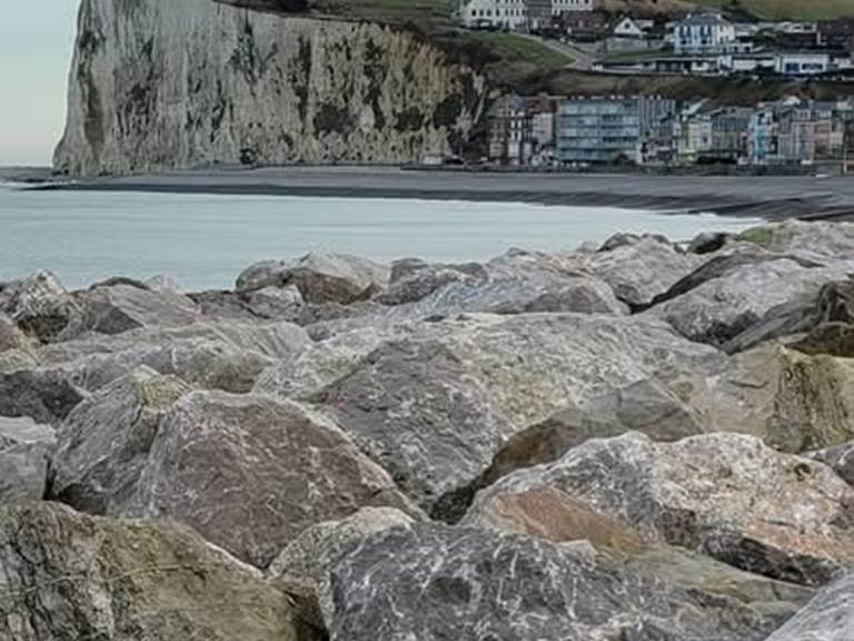
[[[813,79],[837,99],[726,105],[662,96],[517,96],[487,114],[488,162],[513,166],[734,166],[847,170],[854,159],[854,18],[766,22],[703,11],[614,14],[599,0],[461,0],[471,30],[508,30],[570,48],[576,68],[622,76]],[[850,149],[851,148],[851,149]],[[808,169],[801,169],[808,170]]]

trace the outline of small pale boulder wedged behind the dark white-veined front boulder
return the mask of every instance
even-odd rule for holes
[[[267,568],[271,580],[307,584],[317,595],[327,625],[335,615],[331,571],[336,563],[374,534],[411,527],[415,520],[394,507],[363,507],[340,521],[326,521],[305,530]]]

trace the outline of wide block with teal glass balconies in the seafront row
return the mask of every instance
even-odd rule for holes
[[[659,97],[569,98],[557,111],[557,159],[563,164],[642,162],[644,139],[673,112]]]

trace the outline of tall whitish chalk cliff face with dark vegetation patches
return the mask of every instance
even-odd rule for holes
[[[66,132],[73,175],[447,154],[484,81],[413,33],[211,0],[82,0]]]

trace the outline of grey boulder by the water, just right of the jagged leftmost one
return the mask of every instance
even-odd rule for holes
[[[201,319],[187,296],[173,289],[152,289],[142,283],[96,285],[76,296],[86,327],[100,334],[121,334],[147,326],[173,327]]]

